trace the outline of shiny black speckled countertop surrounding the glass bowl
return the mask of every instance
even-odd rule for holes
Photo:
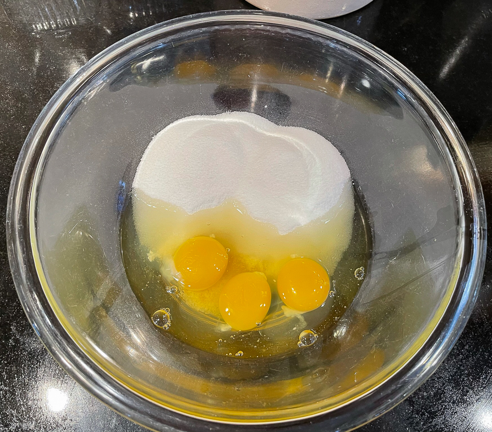
[[[242,0],[0,0],[0,219],[32,123],[78,67],[135,31],[219,9],[253,7]],[[326,22],[386,51],[435,93],[470,147],[492,215],[492,2],[374,0]],[[360,431],[492,431],[489,244],[480,297],[451,354],[412,396]],[[3,227],[0,284],[0,430],[144,431],[89,395],[44,349],[17,299]]]

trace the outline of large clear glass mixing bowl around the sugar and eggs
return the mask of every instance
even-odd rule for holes
[[[128,285],[120,218],[152,137],[246,110],[327,137],[369,216],[352,305],[313,346],[269,359],[169,342]],[[428,89],[367,42],[264,12],[185,17],[111,46],[34,123],[7,212],[20,300],[80,384],[159,431],[349,430],[414,391],[449,352],[484,268],[482,191]]]

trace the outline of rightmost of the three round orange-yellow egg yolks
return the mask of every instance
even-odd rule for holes
[[[325,302],[330,292],[330,278],[316,261],[295,258],[280,269],[277,291],[289,308],[307,312]]]

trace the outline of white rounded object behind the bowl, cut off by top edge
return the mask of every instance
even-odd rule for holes
[[[320,20],[360,9],[372,0],[247,0],[263,10],[290,13]]]

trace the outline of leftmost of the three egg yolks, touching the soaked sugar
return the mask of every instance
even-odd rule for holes
[[[214,285],[227,267],[225,248],[212,237],[186,240],[174,254],[174,266],[186,288],[200,291]]]

